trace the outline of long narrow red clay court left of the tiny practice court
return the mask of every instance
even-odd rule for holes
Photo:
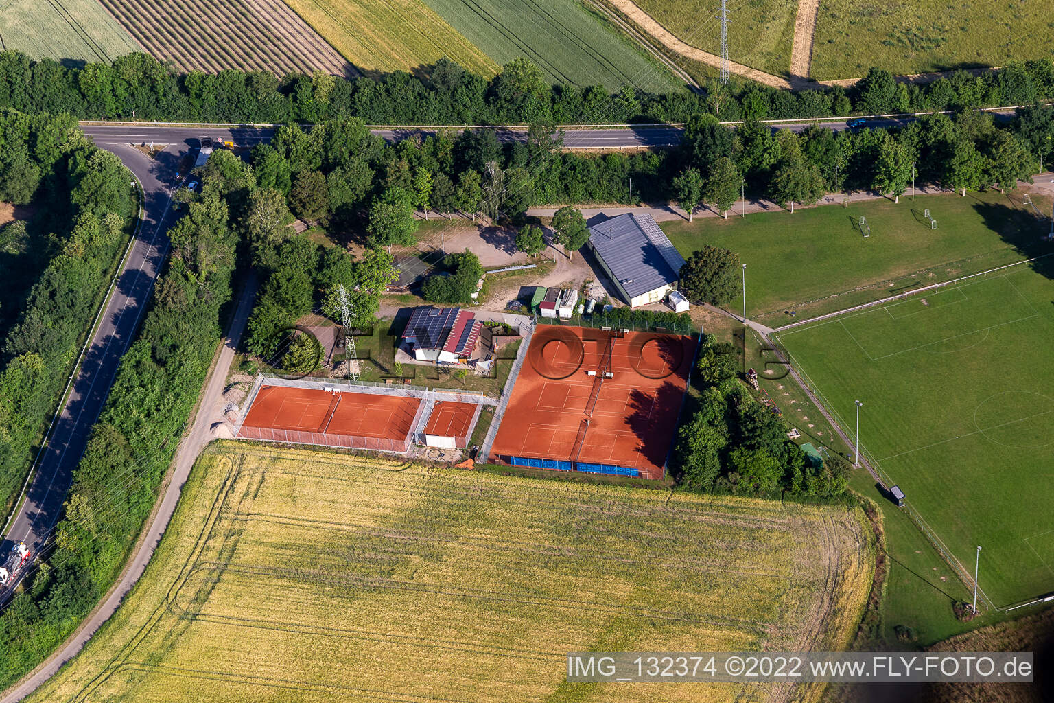
[[[419,411],[415,397],[264,386],[238,436],[405,452]]]

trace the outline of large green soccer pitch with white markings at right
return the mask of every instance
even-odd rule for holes
[[[1052,259],[775,335],[997,606],[1054,591]]]

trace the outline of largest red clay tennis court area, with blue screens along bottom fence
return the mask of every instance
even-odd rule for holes
[[[695,348],[682,335],[539,327],[490,453],[662,479]]]

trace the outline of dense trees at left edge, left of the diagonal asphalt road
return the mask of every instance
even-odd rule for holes
[[[0,509],[37,447],[134,229],[131,174],[69,115],[0,111],[0,200],[33,208],[0,230]]]

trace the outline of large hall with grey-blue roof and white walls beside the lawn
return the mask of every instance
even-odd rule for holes
[[[677,290],[684,257],[651,215],[626,213],[593,224],[586,247],[631,308]]]

